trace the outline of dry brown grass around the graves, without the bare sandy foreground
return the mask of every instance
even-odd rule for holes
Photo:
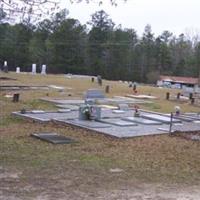
[[[64,93],[50,90],[50,97],[71,98],[82,96],[87,88],[100,88],[90,80],[66,79],[63,75],[32,76],[8,74],[17,78],[15,84],[59,85],[72,87]],[[10,84],[10,81],[4,82]],[[127,85],[104,81],[111,85],[113,95],[131,93]],[[104,87],[103,86],[103,87]],[[177,102],[166,101],[165,93],[177,91],[139,86],[139,93],[159,97],[155,103],[143,106],[156,111],[170,112]],[[20,102],[12,103],[0,92],[0,167],[22,172],[19,185],[33,184],[36,191],[45,188],[47,183],[62,188],[81,188],[83,191],[96,191],[97,188],[113,189],[135,183],[200,184],[200,143],[168,135],[146,136],[131,139],[115,139],[90,131],[72,127],[63,127],[52,123],[28,122],[10,115],[12,111],[27,109],[55,109],[51,104],[37,100],[47,91],[23,91]],[[189,103],[180,104],[184,111],[200,111]],[[52,145],[33,139],[33,132],[57,132],[72,137],[78,143],[71,145]],[[113,174],[111,168],[121,168],[123,172]],[[40,177],[40,178],[39,178]],[[38,179],[40,187],[38,187]],[[6,182],[8,187],[12,182]],[[12,189],[10,189],[12,190]],[[64,189],[63,189],[64,190]],[[13,192],[16,189],[12,190]],[[32,191],[32,190],[31,190]],[[35,195],[34,191],[30,195]]]

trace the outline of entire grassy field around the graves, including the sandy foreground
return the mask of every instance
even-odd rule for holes
[[[22,108],[55,110],[41,97],[81,98],[88,88],[105,88],[108,96],[131,94],[125,83],[69,79],[64,75],[0,74],[16,81],[1,85],[57,85],[64,91],[20,91],[20,102],[0,91],[0,199],[198,199],[200,143],[169,135],[115,139],[78,128],[26,121],[11,115]],[[67,89],[68,88],[68,89]],[[72,88],[72,89],[69,89]],[[189,102],[166,101],[177,90],[138,86],[139,94],[158,97],[141,108],[171,112],[200,112]],[[12,92],[13,93],[13,92]],[[48,94],[47,94],[48,93]],[[69,93],[71,96],[69,96]],[[57,132],[77,140],[52,145],[30,137],[34,132]],[[120,169],[120,172],[111,172]],[[170,196],[171,195],[171,196]],[[191,196],[192,195],[192,196]],[[179,197],[178,196],[178,197]],[[181,198],[180,198],[181,199]],[[182,198],[183,199],[183,198]]]

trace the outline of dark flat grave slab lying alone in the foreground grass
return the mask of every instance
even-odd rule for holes
[[[53,143],[53,144],[72,144],[75,141],[71,138],[58,135],[57,133],[33,133],[32,137]]]

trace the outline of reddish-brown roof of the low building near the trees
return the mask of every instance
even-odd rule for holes
[[[174,83],[198,84],[198,78],[193,77],[160,76],[160,80]]]

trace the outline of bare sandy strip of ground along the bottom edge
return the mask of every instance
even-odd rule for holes
[[[72,175],[74,177],[74,175]],[[37,179],[37,181],[35,181]],[[199,200],[200,186],[145,184],[139,182],[116,184],[116,189],[103,184],[82,185],[76,177],[61,179],[44,177],[23,180],[23,173],[0,168],[0,200]],[[78,179],[78,177],[77,177]],[[34,181],[33,181],[34,180]]]

